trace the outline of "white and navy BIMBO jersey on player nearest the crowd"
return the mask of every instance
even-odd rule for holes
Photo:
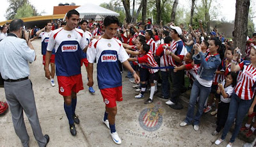
[[[115,38],[93,39],[87,49],[89,63],[97,63],[97,79],[99,89],[122,86],[122,75],[118,61],[123,63],[129,58],[122,42]]]

